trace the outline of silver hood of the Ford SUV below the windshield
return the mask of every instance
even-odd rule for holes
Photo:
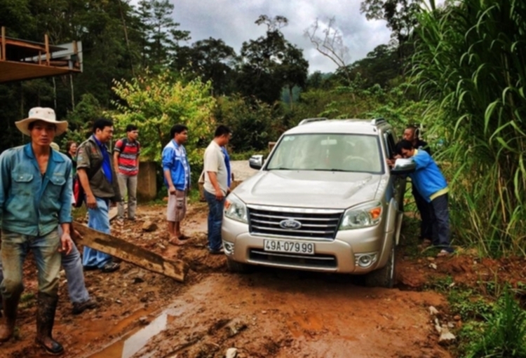
[[[381,174],[272,170],[243,181],[234,194],[249,205],[346,209],[375,200],[381,182]]]

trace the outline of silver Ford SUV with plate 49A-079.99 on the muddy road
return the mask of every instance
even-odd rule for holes
[[[387,165],[396,136],[384,119],[309,118],[285,132],[260,169],[227,197],[229,268],[252,265],[367,274],[392,287],[410,160]]]

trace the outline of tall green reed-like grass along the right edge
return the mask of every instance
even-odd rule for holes
[[[526,1],[423,11],[415,39],[424,121],[447,143],[457,243],[525,255]]]

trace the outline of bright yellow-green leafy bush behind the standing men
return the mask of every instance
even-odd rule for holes
[[[185,144],[189,162],[198,168],[203,161],[203,149],[198,150],[198,143],[208,142],[214,129],[215,99],[210,88],[210,82],[177,81],[168,71],[132,81],[114,81],[113,90],[119,97],[114,102],[117,110],[112,113],[116,129],[123,132],[126,125],[137,125],[141,156],[159,161],[163,147],[171,140],[170,128],[184,124],[189,133]]]

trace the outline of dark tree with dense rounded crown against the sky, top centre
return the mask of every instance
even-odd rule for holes
[[[291,90],[295,85],[305,85],[309,62],[303,51],[281,33],[281,27],[288,24],[287,18],[261,15],[255,23],[267,25],[267,33],[243,43],[236,85],[245,96],[274,103],[283,87]]]

